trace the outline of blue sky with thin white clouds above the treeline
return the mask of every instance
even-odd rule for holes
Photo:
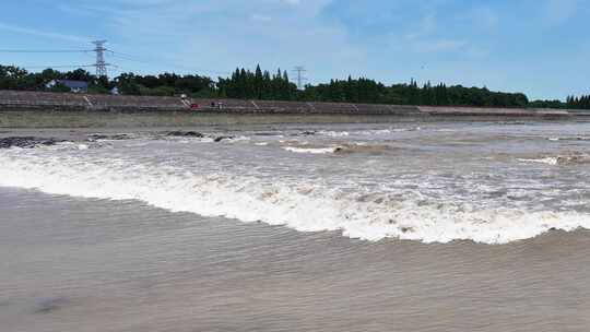
[[[588,17],[590,0],[3,0],[0,48],[90,49],[101,38],[127,55],[107,58],[120,71],[300,64],[311,83],[414,78],[563,99],[590,93]],[[31,69],[92,62],[0,54]]]

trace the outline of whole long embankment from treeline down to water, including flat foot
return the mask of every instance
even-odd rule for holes
[[[382,122],[440,119],[568,119],[558,109],[423,107],[0,91],[0,127],[148,127]]]

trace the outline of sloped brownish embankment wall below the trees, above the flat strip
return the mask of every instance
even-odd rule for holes
[[[283,102],[223,98],[154,97],[0,91],[0,112],[71,111],[82,112],[196,112],[282,116],[396,116],[396,117],[533,117],[567,118],[576,110],[544,108],[412,106],[326,102]]]

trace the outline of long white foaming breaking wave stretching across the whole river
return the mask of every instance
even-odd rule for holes
[[[163,164],[74,155],[0,153],[0,186],[110,200],[140,200],[173,212],[286,225],[302,232],[337,230],[365,240],[506,244],[551,229],[590,228],[575,211],[472,206],[420,192],[344,192],[321,182],[198,174]],[[402,197],[402,198],[400,198]]]

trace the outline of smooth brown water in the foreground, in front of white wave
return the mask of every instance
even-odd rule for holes
[[[0,188],[2,331],[588,331],[590,234],[353,240]]]

